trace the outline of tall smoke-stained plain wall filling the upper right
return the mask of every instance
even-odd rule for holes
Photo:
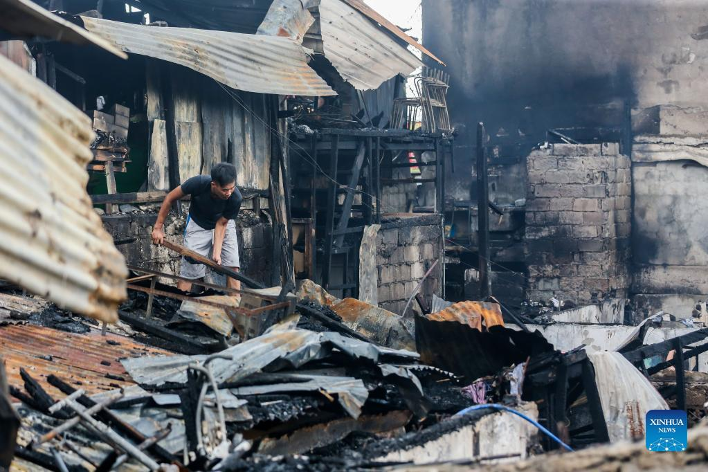
[[[553,127],[614,126],[624,102],[704,103],[707,24],[687,0],[423,0],[423,42],[447,64],[459,130],[450,195],[469,198],[476,122],[492,141],[533,144]]]

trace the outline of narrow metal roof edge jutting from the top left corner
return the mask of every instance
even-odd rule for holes
[[[110,42],[59,18],[30,0],[0,0],[0,11],[0,30],[7,33],[21,38],[42,36],[77,45],[96,45],[127,59],[127,54],[113,47]]]

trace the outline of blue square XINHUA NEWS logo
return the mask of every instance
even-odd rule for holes
[[[646,413],[646,449],[653,452],[685,451],[688,420],[684,410],[651,410]]]

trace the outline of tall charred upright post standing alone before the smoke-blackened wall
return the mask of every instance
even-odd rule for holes
[[[477,125],[477,234],[479,243],[479,298],[491,296],[491,261],[489,260],[489,185],[484,154],[484,123]]]

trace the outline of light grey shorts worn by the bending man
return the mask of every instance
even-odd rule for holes
[[[184,245],[186,248],[211,259],[213,243],[213,229],[204,229],[196,224],[193,219],[188,219],[187,227],[184,231]],[[236,238],[236,223],[232,219],[227,223],[226,234],[224,234],[222,265],[224,267],[241,267],[239,263],[239,240]],[[185,258],[182,258],[180,275],[187,279],[199,279],[207,275],[207,266],[204,264],[191,264]]]

